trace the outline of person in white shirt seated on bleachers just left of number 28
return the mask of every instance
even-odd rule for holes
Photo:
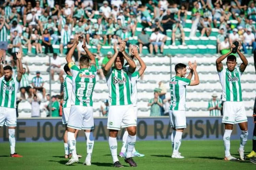
[[[49,66],[49,63],[46,63],[46,66]],[[54,81],[54,73],[56,72],[59,74],[59,76],[62,76],[64,71],[60,68],[61,67],[61,60],[57,56],[56,53],[53,54],[53,58],[51,58],[51,75],[52,75],[52,80]]]

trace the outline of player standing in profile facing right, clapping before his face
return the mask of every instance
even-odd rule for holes
[[[186,86],[195,86],[199,84],[197,74],[197,63],[188,62],[190,73],[185,78],[187,66],[179,63],[175,65],[175,77],[170,81],[171,104],[169,109],[170,123],[172,127],[171,142],[172,142],[172,158],[184,158],[179,152],[181,146],[182,133],[187,127],[186,125]],[[194,80],[191,80],[193,73]]]

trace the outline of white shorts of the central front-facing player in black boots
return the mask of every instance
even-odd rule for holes
[[[133,106],[109,106],[107,129],[120,130],[130,126],[137,126],[137,118]]]

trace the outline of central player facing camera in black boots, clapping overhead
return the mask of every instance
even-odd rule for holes
[[[132,150],[136,142],[136,116],[133,113],[131,100],[131,76],[136,69],[136,64],[125,52],[125,42],[120,43],[118,52],[116,43],[114,44],[115,54],[106,64],[103,73],[106,77],[109,88],[109,146],[113,158],[114,167],[123,167],[117,157],[116,136],[120,128],[127,128],[127,152],[125,162],[136,167],[137,164],[132,159]],[[124,59],[128,66],[124,67]],[[114,67],[112,65],[114,64]]]

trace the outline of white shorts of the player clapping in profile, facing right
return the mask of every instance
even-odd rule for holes
[[[186,111],[169,110],[171,127],[175,129],[187,128]]]

